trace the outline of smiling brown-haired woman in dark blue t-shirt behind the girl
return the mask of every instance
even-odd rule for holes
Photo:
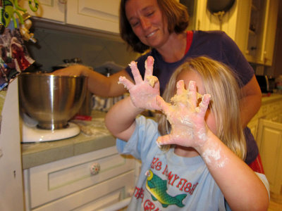
[[[159,78],[161,94],[171,74],[187,58],[209,56],[228,65],[240,81],[243,101],[240,105],[243,127],[257,113],[261,106],[262,94],[254,71],[235,42],[224,32],[186,32],[188,12],[178,1],[171,0],[121,0],[121,37],[134,51],[144,53],[137,59],[141,75],[145,73],[145,60],[153,56],[154,75]],[[130,68],[121,70],[107,78],[82,65],[71,66],[56,72],[61,75],[85,75],[89,77],[88,88],[100,96],[118,96],[126,89],[118,85],[118,77],[133,79]],[[245,129],[247,158],[245,162],[257,170],[261,165],[258,148],[250,133]],[[257,160],[258,159],[258,160]],[[260,170],[263,172],[263,170]]]

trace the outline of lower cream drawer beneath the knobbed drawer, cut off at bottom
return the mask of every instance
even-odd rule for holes
[[[134,187],[134,171],[126,172],[69,196],[52,201],[32,211],[99,210],[130,196]]]

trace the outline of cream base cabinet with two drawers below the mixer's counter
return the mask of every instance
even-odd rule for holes
[[[24,183],[26,210],[97,210],[130,196],[135,160],[113,146],[32,167]]]

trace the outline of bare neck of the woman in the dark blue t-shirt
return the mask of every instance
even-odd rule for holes
[[[156,50],[161,54],[164,61],[174,63],[183,58],[186,49],[186,32],[170,34],[166,44]]]

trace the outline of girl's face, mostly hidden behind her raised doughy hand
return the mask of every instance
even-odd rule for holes
[[[178,77],[176,77],[176,81],[178,82],[179,80],[184,81],[185,89],[188,89],[188,84],[191,80],[195,81],[197,84],[197,92],[199,92],[200,94],[207,94],[203,86],[202,77],[198,72],[194,70],[183,70],[182,72],[180,72]],[[216,134],[216,120],[214,117],[214,113],[212,113],[212,111],[208,109],[204,119],[206,120],[209,129],[214,134]]]

